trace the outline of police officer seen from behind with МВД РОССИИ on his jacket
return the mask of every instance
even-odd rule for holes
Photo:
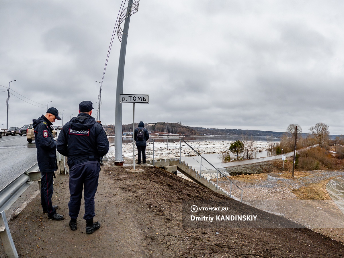
[[[79,215],[84,189],[86,234],[92,234],[100,227],[93,222],[95,216],[94,196],[97,192],[100,172],[100,157],[109,151],[109,141],[103,127],[91,116],[92,102],[85,100],[79,104],[79,115],[67,122],[57,138],[57,151],[68,157],[69,227],[77,229],[76,218]]]

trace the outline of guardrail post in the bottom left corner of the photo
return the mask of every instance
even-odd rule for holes
[[[11,236],[10,229],[7,224],[5,211],[0,212],[0,238],[9,258],[19,258],[17,249],[15,249],[14,242]]]

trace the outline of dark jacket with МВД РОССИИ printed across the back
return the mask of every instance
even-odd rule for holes
[[[67,122],[57,138],[57,151],[68,157],[68,166],[89,160],[100,161],[109,151],[106,133],[96,120],[80,113]]]

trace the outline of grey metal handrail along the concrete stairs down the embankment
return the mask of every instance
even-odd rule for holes
[[[218,187],[220,187],[219,186],[219,182],[220,182],[221,183],[221,188],[224,189],[225,187],[228,187],[229,188],[230,196],[232,196],[233,185],[235,185],[237,187],[237,189],[239,189],[239,191],[241,191],[241,202],[243,201],[243,192],[244,191],[239,186],[237,186],[232,180],[230,180],[223,172],[221,172],[220,170],[215,168],[215,166],[212,163],[207,161],[198,151],[196,151],[194,148],[192,148],[190,146],[190,144],[188,144],[183,139],[180,139],[180,138],[152,138],[152,141],[153,141],[153,166],[154,166],[154,163],[155,163],[155,161],[154,161],[154,140],[167,140],[167,146],[168,146],[168,140],[179,140],[179,142],[180,142],[180,147],[179,147],[179,164],[182,163],[182,151],[184,153],[186,153],[186,155],[192,157],[189,153],[187,153],[185,150],[182,149],[182,141],[183,141],[186,144],[185,147],[191,148],[196,153],[196,155],[201,157],[201,162],[198,162],[196,159],[194,159],[195,161],[197,161],[200,164],[200,176],[202,176],[202,167],[206,171],[211,172],[209,169],[205,168],[204,164],[202,165],[202,160],[204,160],[209,165],[211,165],[213,167],[213,169],[216,171],[216,185],[215,185],[216,186],[216,190],[218,189]]]

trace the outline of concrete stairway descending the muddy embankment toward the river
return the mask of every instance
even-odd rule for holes
[[[152,160],[146,161],[148,164],[153,165]],[[239,198],[234,197],[229,192],[225,191],[221,187],[216,188],[216,182],[213,182],[212,180],[206,179],[204,175],[200,175],[200,172],[195,171],[191,166],[189,166],[187,163],[185,164],[185,161],[182,160],[182,163],[179,163],[179,159],[159,159],[155,160],[154,166],[157,166],[159,168],[162,168],[168,172],[176,172],[177,170],[187,176],[187,178],[191,179],[195,183],[202,185],[204,187],[207,187],[210,190],[213,190],[216,193],[228,196],[236,201],[240,201]]]

